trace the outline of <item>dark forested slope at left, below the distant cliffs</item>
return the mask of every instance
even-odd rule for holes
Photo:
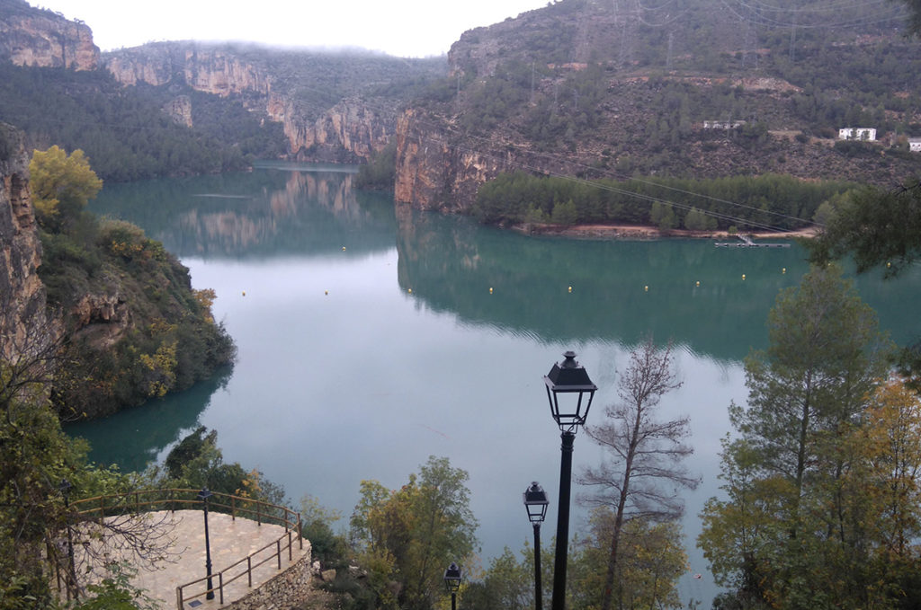
[[[239,146],[171,121],[143,91],[123,89],[108,73],[0,63],[0,119],[26,132],[31,148],[84,150],[103,179],[240,169],[280,138],[280,128],[273,135],[242,108],[214,114],[236,126]]]

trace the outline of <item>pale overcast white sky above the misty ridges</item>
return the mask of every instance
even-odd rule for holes
[[[402,57],[448,52],[467,29],[547,0],[29,0],[93,30],[102,51],[155,40],[361,47]]]

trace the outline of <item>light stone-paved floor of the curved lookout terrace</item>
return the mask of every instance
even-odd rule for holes
[[[160,511],[146,513],[149,523],[162,524],[164,532],[169,538],[170,557],[165,561],[158,561],[153,570],[140,569],[132,580],[134,586],[144,589],[146,595],[157,602],[163,610],[176,608],[176,587],[189,581],[202,578],[206,575],[204,569],[204,512],[202,511]],[[266,545],[272,544],[267,550],[262,551],[253,558],[255,565],[262,559],[271,557],[267,562],[253,568],[252,587],[259,587],[276,574],[286,570],[291,563],[296,562],[310,552],[309,542],[304,541],[304,547],[299,548],[297,536],[293,536],[292,558],[288,561],[286,539],[282,541],[282,568],[278,570],[277,559],[273,557],[274,541],[285,534],[281,525],[262,524],[255,521],[237,517],[231,519],[229,514],[221,512],[208,512],[208,537],[211,541],[212,579],[215,588],[218,586],[217,572],[226,569],[239,559],[246,558]],[[77,545],[79,549],[79,546]],[[79,560],[79,558],[77,558]],[[246,562],[231,570],[225,575],[225,582],[229,578],[246,570]],[[198,593],[204,593],[206,587],[202,582],[194,589],[187,588],[183,592],[186,599],[184,608],[209,610],[220,608],[220,594],[215,592],[215,599],[206,600],[204,595],[195,598],[193,602],[200,605],[190,605],[189,598]],[[247,577],[244,575],[224,587],[224,604],[229,604],[253,589],[248,586]]]

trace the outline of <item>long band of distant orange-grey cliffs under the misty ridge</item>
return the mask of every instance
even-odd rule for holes
[[[316,115],[302,109],[274,75],[227,49],[193,42],[148,44],[107,53],[105,64],[125,86],[187,85],[217,96],[239,97],[251,111],[284,125],[287,156],[298,161],[355,163],[383,148],[393,133],[392,111],[370,109],[356,99],[343,100],[314,119]],[[174,119],[186,116],[173,110],[170,107]],[[190,107],[189,121],[191,116]]]

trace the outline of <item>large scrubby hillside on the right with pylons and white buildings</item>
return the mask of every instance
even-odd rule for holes
[[[404,115],[396,197],[469,212],[517,170],[898,184],[921,160],[905,23],[897,2],[563,0],[473,29],[449,52],[455,90]]]

